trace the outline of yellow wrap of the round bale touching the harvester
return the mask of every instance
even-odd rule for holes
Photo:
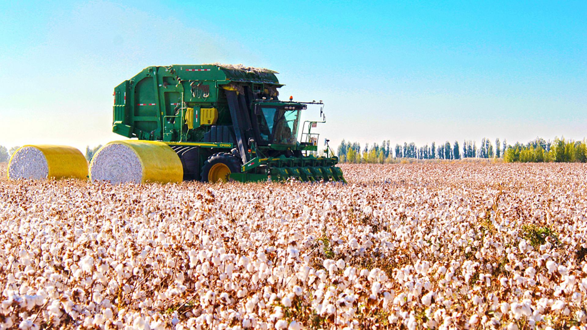
[[[90,180],[93,177],[93,167],[96,166],[95,159],[102,159],[100,152],[111,144],[122,144],[129,147],[138,157],[142,168],[141,183],[147,182],[181,182],[183,180],[183,166],[181,166],[180,157],[170,146],[163,142],[141,141],[141,140],[121,140],[113,141],[102,147],[90,164]]]

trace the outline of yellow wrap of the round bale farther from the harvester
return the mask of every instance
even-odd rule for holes
[[[8,163],[8,178],[11,178],[12,166],[31,166],[32,164],[12,164],[12,161],[18,159],[19,151],[26,147],[32,147],[40,150],[45,156],[48,167],[48,179],[87,179],[87,160],[82,151],[70,146],[56,146],[53,144],[28,144],[16,150]],[[26,159],[23,159],[26,160]]]

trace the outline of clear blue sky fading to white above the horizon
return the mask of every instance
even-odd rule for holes
[[[211,62],[277,70],[282,95],[324,100],[334,145],[587,137],[585,1],[31,1],[2,2],[0,21],[8,147],[119,139],[114,86]]]

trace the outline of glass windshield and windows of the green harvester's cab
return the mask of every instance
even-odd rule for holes
[[[300,110],[262,107],[257,116],[262,140],[275,144],[295,144]]]

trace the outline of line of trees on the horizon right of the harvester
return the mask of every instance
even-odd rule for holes
[[[455,141],[453,144],[445,142],[436,145],[417,147],[414,142],[396,144],[392,148],[390,140],[384,140],[381,144],[365,144],[361,147],[358,142],[347,142],[344,139],[339,144],[337,154],[342,163],[396,163],[398,159],[416,160],[459,160],[459,159],[502,159],[505,162],[580,162],[587,161],[586,140],[573,141],[555,137],[551,142],[541,137],[522,144],[516,142],[513,146],[507,144],[507,140],[500,143],[495,139],[495,144],[490,139],[483,138],[477,146],[477,142],[464,140],[463,144]]]

